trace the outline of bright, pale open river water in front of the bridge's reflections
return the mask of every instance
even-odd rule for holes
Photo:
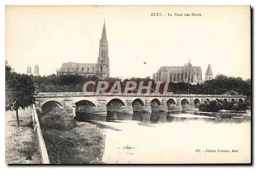
[[[148,125],[135,120],[97,123],[107,126],[102,158],[105,163],[250,162],[250,121],[214,123],[188,118]]]

